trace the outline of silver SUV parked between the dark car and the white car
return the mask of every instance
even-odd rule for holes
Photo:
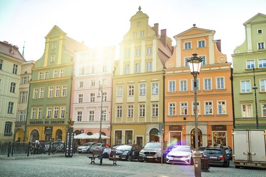
[[[161,143],[159,142],[149,142],[146,146],[139,152],[139,161],[156,161],[161,162]]]

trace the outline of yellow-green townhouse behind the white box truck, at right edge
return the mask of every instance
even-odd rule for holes
[[[266,15],[258,13],[243,25],[245,41],[232,55],[235,127],[256,129],[258,123],[266,129]]]

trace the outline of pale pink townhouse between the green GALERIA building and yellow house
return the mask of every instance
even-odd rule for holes
[[[115,47],[106,47],[75,53],[70,112],[75,121],[73,130],[76,135],[83,132],[88,135],[99,133],[102,116],[101,135],[110,136],[115,50]],[[98,139],[85,141],[98,142]],[[109,142],[108,139],[102,139],[102,142],[106,141]]]

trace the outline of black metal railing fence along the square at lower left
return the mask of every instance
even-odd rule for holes
[[[20,142],[0,142],[0,156],[30,156],[35,154],[64,154],[65,142],[45,142],[45,143],[20,143]],[[77,152],[77,143],[73,144],[73,153]]]

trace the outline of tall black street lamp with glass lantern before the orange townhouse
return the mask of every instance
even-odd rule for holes
[[[199,137],[198,137],[198,115],[197,115],[197,75],[200,74],[202,58],[197,57],[197,54],[192,54],[193,57],[187,59],[189,69],[194,77],[194,114],[195,114],[195,149],[194,153],[194,169],[195,176],[201,176],[201,154],[199,152]]]

